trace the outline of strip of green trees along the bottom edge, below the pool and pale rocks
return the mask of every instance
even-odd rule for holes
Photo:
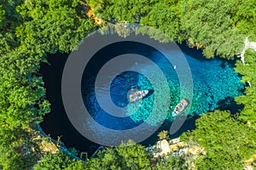
[[[96,158],[86,161],[75,161],[71,157],[58,152],[49,154],[38,162],[35,169],[47,170],[83,170],[83,169],[186,169],[183,161],[177,156],[169,156],[166,159],[160,158],[158,163],[154,164],[149,161],[148,152],[140,144],[134,144],[118,148],[109,147],[106,150],[100,151]]]

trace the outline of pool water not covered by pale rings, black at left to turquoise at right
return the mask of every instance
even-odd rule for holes
[[[130,47],[132,44],[130,44]],[[125,44],[127,52],[131,53],[131,48],[129,45]],[[188,60],[189,67],[193,77],[193,87],[194,87],[194,97],[190,101],[191,107],[189,110],[189,118],[183,124],[183,127],[179,131],[172,135],[172,137],[177,137],[181,133],[195,128],[195,119],[202,113],[207,111],[213,111],[214,109],[221,110],[232,110],[236,112],[240,106],[234,103],[234,98],[237,95],[243,93],[244,85],[241,84],[241,77],[234,71],[233,61],[226,61],[224,59],[204,59],[201,53],[195,49],[189,49],[186,46],[180,46],[186,59]],[[119,48],[122,53],[124,48]],[[139,47],[137,44],[133,46],[134,54],[147,55],[148,59],[152,59],[157,65],[165,72],[166,79],[168,81],[168,87],[170,88],[170,109],[168,111],[168,116],[166,116],[166,121],[160,130],[166,129],[171,126],[174,117],[171,116],[172,109],[177,105],[179,101],[179,82],[177,79],[177,73],[172,65],[166,64],[166,60],[162,59],[161,54],[158,54],[154,49]],[[115,50],[116,54],[119,51]],[[68,54],[54,54],[49,55],[50,65],[43,64],[41,68],[41,74],[44,76],[45,87],[47,88],[47,99],[51,103],[51,112],[44,117],[44,122],[40,125],[43,127],[44,132],[50,134],[51,137],[57,139],[61,136],[61,140],[67,145],[67,147],[75,147],[79,150],[89,151],[91,154],[96,150],[97,144],[94,144],[88,139],[85,139],[73,125],[69,122],[67,114],[64,110],[62,100],[61,100],[61,74],[67,60]],[[111,57],[111,56],[110,56]],[[112,56],[113,57],[113,56]],[[91,62],[95,62],[96,65],[89,65],[86,67],[84,72],[85,76],[81,82],[82,94],[84,97],[84,105],[90,109],[90,115],[94,117],[96,122],[101,123],[105,127],[113,129],[127,129],[136,127],[140,123],[144,122],[149,116],[154,105],[154,91],[153,94],[149,95],[146,99],[140,103],[140,109],[134,111],[134,107],[129,104],[127,100],[127,92],[131,89],[131,86],[137,85],[138,89],[150,89],[154,90],[151,82],[148,81],[147,77],[143,74],[127,71],[120,73],[117,77],[113,79],[110,87],[111,99],[115,105],[119,107],[127,107],[127,117],[120,121],[119,117],[111,116],[105,111],[102,111],[100,105],[96,102],[96,96],[94,91],[94,81],[97,71],[108,62],[110,58],[101,59],[96,58]],[[154,74],[150,70],[148,65],[142,66],[142,71],[148,71],[148,74]],[[158,82],[157,75],[155,76],[155,81]],[[161,83],[161,82],[158,82]],[[108,88],[102,88],[102,93],[109,90]],[[157,91],[157,93],[166,92]],[[161,95],[161,94],[160,94]],[[164,103],[164,102],[163,102]],[[137,104],[134,104],[137,106]],[[137,107],[136,107],[137,108]],[[157,120],[156,120],[157,121]],[[124,123],[125,122],[125,123]],[[152,122],[154,126],[154,122]],[[154,144],[157,139],[154,133],[150,138],[143,141],[142,144]]]

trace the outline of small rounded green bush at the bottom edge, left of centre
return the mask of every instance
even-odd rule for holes
[[[57,152],[55,154],[48,154],[43,157],[41,161],[39,161],[35,166],[35,170],[62,170],[74,160],[67,156],[64,152]]]

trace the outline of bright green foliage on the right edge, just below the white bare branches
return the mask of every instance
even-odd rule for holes
[[[256,52],[247,50],[245,59],[246,65],[242,65],[240,60],[236,62],[236,71],[242,75],[241,81],[250,83],[251,87],[247,86],[246,94],[236,97],[236,102],[244,105],[239,119],[256,129]]]

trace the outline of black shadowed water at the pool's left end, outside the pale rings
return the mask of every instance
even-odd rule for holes
[[[61,137],[66,146],[79,150],[88,151],[91,155],[98,147],[98,144],[85,139],[71,124],[61,99],[61,75],[66,63],[68,54],[50,54],[49,64],[43,63],[39,71],[44,76],[44,87],[46,96],[50,102],[51,112],[44,116],[44,122],[40,123],[44,133],[49,134],[53,139]]]

